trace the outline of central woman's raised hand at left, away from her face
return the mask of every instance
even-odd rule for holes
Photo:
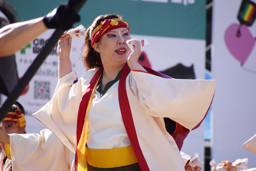
[[[68,31],[65,31],[62,34],[62,36],[67,32]],[[60,58],[69,58],[71,43],[72,43],[72,37],[69,34],[59,39],[57,53]]]

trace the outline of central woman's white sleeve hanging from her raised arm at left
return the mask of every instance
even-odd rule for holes
[[[81,82],[74,71],[61,77],[52,100],[33,114],[72,152],[76,148],[77,115],[83,95]]]

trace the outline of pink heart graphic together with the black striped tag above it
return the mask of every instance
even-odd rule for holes
[[[227,49],[241,63],[242,69],[256,74],[256,71],[243,67],[255,47],[256,37],[253,37],[248,28],[255,18],[256,4],[251,0],[242,0],[237,15],[240,24],[231,24],[225,31],[224,39]]]

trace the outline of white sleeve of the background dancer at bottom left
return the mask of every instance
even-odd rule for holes
[[[39,134],[10,134],[15,171],[69,171],[69,149],[49,129]]]

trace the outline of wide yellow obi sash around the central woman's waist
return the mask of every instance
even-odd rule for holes
[[[90,166],[98,168],[114,168],[138,163],[131,145],[111,149],[86,147],[86,157]]]

